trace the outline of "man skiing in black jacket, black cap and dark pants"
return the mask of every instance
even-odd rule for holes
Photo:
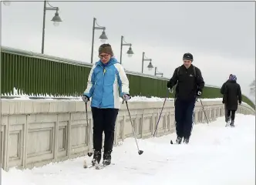
[[[175,93],[175,121],[177,143],[189,143],[193,127],[194,106],[197,96],[201,96],[204,89],[204,79],[200,69],[192,65],[193,55],[185,53],[183,56],[184,65],[174,70],[173,76],[167,87],[172,89],[176,86]]]

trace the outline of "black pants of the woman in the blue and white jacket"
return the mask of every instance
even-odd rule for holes
[[[93,149],[101,150],[104,140],[104,153],[113,150],[116,117],[119,109],[98,109],[92,107],[93,113]]]

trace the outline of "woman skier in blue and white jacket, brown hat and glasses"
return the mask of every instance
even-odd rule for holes
[[[83,101],[92,98],[93,113],[93,166],[101,160],[103,131],[105,134],[103,164],[111,163],[115,124],[120,109],[120,97],[130,99],[129,80],[123,66],[113,57],[111,45],[99,46],[99,61],[89,72]]]

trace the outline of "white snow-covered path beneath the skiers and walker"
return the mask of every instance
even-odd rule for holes
[[[255,116],[238,114],[235,128],[224,125],[224,117],[195,125],[189,145],[170,145],[175,133],[138,140],[141,156],[134,139],[126,139],[113,150],[115,165],[103,170],[83,169],[84,157],[33,170],[2,170],[2,185],[254,185]]]

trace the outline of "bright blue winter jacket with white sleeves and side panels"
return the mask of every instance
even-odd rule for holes
[[[129,80],[123,66],[113,57],[106,64],[96,62],[83,94],[92,98],[92,107],[120,109],[120,97],[129,94]]]

